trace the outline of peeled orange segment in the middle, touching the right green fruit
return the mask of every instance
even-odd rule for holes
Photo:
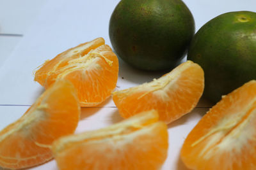
[[[187,61],[150,83],[113,92],[113,101],[124,118],[154,109],[168,124],[193,110],[203,90],[204,71]]]

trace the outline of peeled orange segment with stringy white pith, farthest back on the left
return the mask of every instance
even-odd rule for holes
[[[60,53],[35,72],[35,81],[46,89],[61,78],[73,83],[81,106],[96,106],[116,87],[118,59],[104,39],[97,38]]]

